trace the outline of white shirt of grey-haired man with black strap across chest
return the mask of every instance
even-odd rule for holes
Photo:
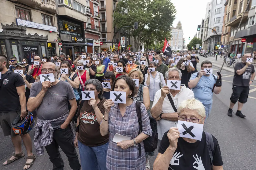
[[[171,95],[171,94],[170,94]],[[158,90],[155,94],[154,103],[152,107],[154,107],[157,103],[157,101],[161,97],[161,89]],[[175,107],[178,109],[179,104],[186,100],[186,99],[193,99],[194,93],[192,90],[187,88],[185,85],[180,89],[180,92],[173,97],[171,95]],[[171,103],[168,99],[168,96],[164,98],[163,105],[162,105],[162,112],[161,113],[174,113],[174,109],[171,106]],[[162,140],[162,137],[164,135],[164,132],[168,131],[172,127],[177,127],[177,121],[169,121],[165,119],[161,119],[160,121],[157,121],[157,132],[158,132],[158,139]]]

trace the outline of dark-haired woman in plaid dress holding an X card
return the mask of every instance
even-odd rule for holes
[[[144,104],[140,105],[142,133],[138,135],[139,122],[135,106],[136,100],[132,99],[136,94],[134,81],[130,77],[120,76],[115,80],[113,90],[116,95],[125,95],[124,97],[120,96],[125,102],[117,103],[110,94],[110,99],[103,104],[105,114],[100,125],[100,133],[102,136],[109,134],[107,169],[144,170],[143,140],[152,134],[147,110]],[[117,136],[119,140],[116,140]],[[139,156],[137,145],[139,143],[141,156]]]

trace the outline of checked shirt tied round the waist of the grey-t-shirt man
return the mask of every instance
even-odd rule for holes
[[[41,119],[37,119],[37,123],[35,126],[35,137],[34,137],[34,145],[35,145],[35,149],[36,149],[36,153],[38,155],[44,155],[44,151],[43,151],[43,146],[47,146],[50,145],[53,137],[53,128],[51,126],[51,122],[55,122],[55,121],[65,121],[67,119],[67,116],[69,114],[66,114],[64,116],[61,116],[57,119],[53,119],[53,120],[41,120]],[[76,138],[75,136],[75,132],[74,129],[72,128],[72,122],[69,122],[70,124],[70,128],[72,131],[72,142],[74,143],[74,140]],[[42,127],[42,133],[40,134],[40,127]]]

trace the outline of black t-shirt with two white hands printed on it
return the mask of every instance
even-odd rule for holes
[[[170,142],[167,137],[167,132],[164,133],[160,143],[159,153],[164,154],[169,147]],[[213,165],[222,166],[222,158],[220,146],[215,137],[213,137]],[[203,131],[202,140],[195,143],[186,142],[183,138],[178,139],[178,147],[174,152],[168,170],[210,170],[211,162],[208,147],[206,144],[206,136]]]

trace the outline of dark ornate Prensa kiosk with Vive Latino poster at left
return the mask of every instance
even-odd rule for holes
[[[48,56],[47,40],[48,37],[26,34],[26,26],[17,26],[14,23],[11,25],[3,25],[3,31],[0,32],[0,53],[6,55],[9,59],[12,56],[17,57],[18,61],[27,58],[28,63],[33,62],[33,57]]]

